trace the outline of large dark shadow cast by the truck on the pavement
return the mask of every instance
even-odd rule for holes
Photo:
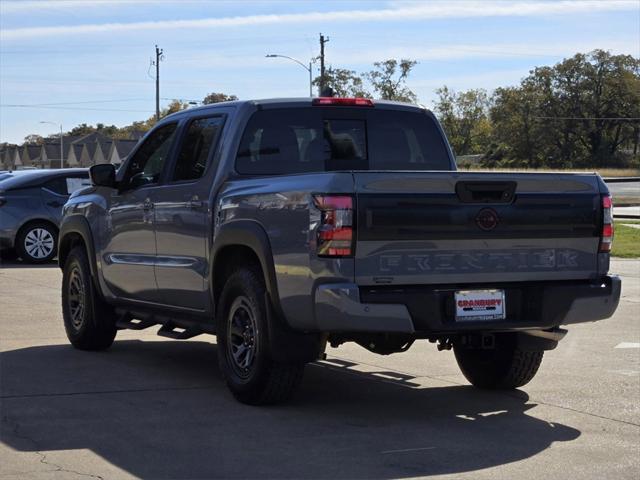
[[[143,478],[406,478],[499,466],[580,435],[528,414],[536,405],[524,392],[418,387],[342,360],[310,365],[291,403],[250,407],[226,389],[216,348],[130,340],[98,353],[6,351],[1,440],[65,451],[46,455],[91,475],[104,465],[76,464],[73,450]],[[43,468],[42,455],[24,471]]]

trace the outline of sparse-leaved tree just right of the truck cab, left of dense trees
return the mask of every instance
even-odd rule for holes
[[[434,113],[456,155],[485,153],[491,143],[489,97],[482,89],[454,92],[445,85],[436,90]]]

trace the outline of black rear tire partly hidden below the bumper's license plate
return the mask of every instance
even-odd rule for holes
[[[517,347],[515,335],[498,334],[494,349],[454,345],[462,374],[478,388],[514,389],[536,375],[543,351],[525,351]]]

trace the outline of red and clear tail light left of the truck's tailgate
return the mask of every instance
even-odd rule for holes
[[[318,256],[348,257],[353,255],[353,197],[351,195],[314,195],[320,210],[317,230]]]

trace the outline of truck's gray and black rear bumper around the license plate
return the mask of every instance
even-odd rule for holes
[[[505,290],[506,319],[455,321],[454,292],[460,289]],[[469,331],[550,329],[593,322],[613,315],[621,281],[521,282],[443,287],[358,287],[320,285],[315,293],[316,325],[322,332],[386,332],[428,336]]]

